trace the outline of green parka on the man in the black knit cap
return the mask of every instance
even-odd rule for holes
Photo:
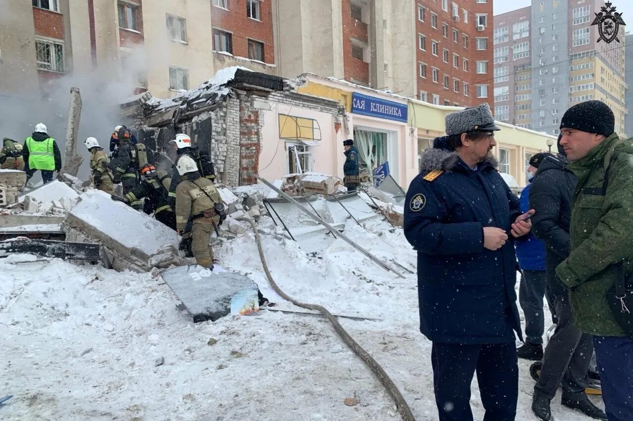
[[[626,336],[611,315],[606,292],[615,283],[613,264],[633,272],[633,143],[617,134],[568,164],[577,177],[570,224],[571,253],[556,275],[570,288],[573,319],[596,336]],[[606,168],[608,186],[601,195]],[[592,194],[593,193],[593,194]]]

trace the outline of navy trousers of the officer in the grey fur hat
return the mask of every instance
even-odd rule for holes
[[[440,421],[472,421],[470,384],[477,372],[484,421],[512,421],[517,413],[518,358],[514,342],[433,343],[433,382]]]

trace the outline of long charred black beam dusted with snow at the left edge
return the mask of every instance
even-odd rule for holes
[[[0,242],[0,257],[7,257],[9,253],[28,253],[66,260],[84,260],[91,264],[97,264],[101,261],[99,250],[99,245],[94,243],[75,243],[26,237]]]

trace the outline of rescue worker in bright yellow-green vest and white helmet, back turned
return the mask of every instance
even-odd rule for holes
[[[53,171],[61,169],[61,154],[55,139],[49,137],[48,129],[43,123],[35,125],[35,131],[24,141],[22,157],[25,162],[27,181],[39,169],[42,181],[53,181]]]

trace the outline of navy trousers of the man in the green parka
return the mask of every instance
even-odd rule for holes
[[[594,347],[609,421],[633,420],[633,339],[595,336]]]

